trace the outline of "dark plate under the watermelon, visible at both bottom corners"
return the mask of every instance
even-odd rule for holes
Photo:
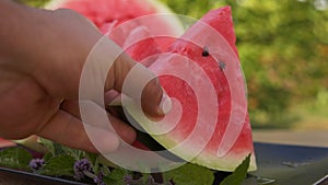
[[[255,143],[258,184],[311,185],[328,174],[328,148]],[[245,185],[257,184],[255,177]],[[274,182],[273,182],[274,181]],[[0,185],[77,185],[81,183],[0,167]],[[327,185],[318,183],[318,185]]]

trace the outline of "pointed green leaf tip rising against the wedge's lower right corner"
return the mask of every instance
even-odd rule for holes
[[[250,161],[250,154],[246,157],[246,159],[239,164],[236,170],[229,175],[226,178],[224,178],[220,185],[239,185],[243,183],[243,181],[246,177],[247,170],[249,167],[249,161]]]

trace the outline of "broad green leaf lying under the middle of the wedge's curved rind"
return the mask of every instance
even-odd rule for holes
[[[200,165],[187,163],[178,169],[164,173],[166,182],[173,180],[176,184],[211,185],[214,181],[213,171]]]

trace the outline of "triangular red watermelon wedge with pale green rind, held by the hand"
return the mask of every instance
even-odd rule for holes
[[[184,160],[234,171],[251,153],[248,170],[254,171],[246,84],[235,41],[231,8],[210,11],[149,67],[173,100],[173,109],[155,125],[133,106],[128,112]]]

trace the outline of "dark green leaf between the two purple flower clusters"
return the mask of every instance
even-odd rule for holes
[[[57,155],[46,161],[40,174],[50,176],[74,175],[74,163],[75,160],[71,155]]]

